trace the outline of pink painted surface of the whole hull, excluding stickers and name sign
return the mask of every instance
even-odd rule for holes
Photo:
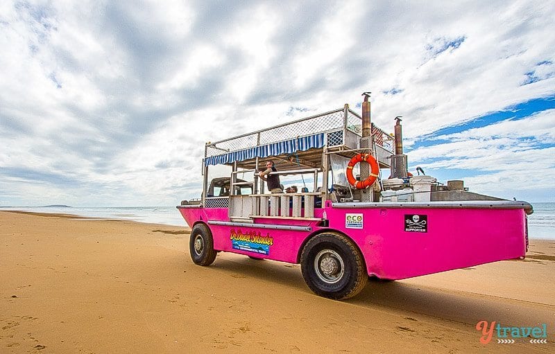
[[[228,209],[179,209],[189,226],[207,220],[229,221]],[[316,209],[317,217],[323,209]],[[325,208],[329,228],[345,233],[361,249],[368,274],[402,279],[518,258],[525,254],[525,216],[522,209],[334,209]],[[363,215],[363,229],[345,227],[347,213]],[[405,231],[407,215],[427,215],[427,232]],[[257,219],[260,224],[309,226],[311,231],[209,225],[214,248],[289,263],[317,222]],[[268,255],[232,248],[231,234],[253,232],[273,239]]]

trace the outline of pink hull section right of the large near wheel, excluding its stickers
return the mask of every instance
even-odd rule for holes
[[[364,229],[346,229],[347,212],[362,213]],[[404,230],[407,215],[413,214],[427,215],[427,232]],[[368,274],[380,278],[409,278],[525,254],[522,209],[332,209],[327,215],[330,227],[357,242]]]

